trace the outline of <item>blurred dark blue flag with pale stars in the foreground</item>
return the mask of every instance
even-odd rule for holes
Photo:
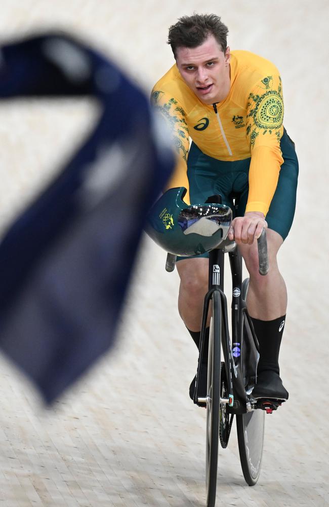
[[[146,212],[174,156],[148,99],[84,43],[50,33],[0,55],[0,98],[87,95],[101,106],[0,243],[0,347],[51,403],[113,343]]]

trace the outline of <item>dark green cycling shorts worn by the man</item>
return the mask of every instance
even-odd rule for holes
[[[277,187],[266,215],[268,227],[276,231],[283,240],[293,223],[296,207],[298,159],[295,144],[285,129],[280,141],[283,164],[279,172]],[[223,204],[233,211],[233,216],[243,216],[249,192],[249,166],[251,159],[223,162],[199,150],[192,142],[188,153],[187,176],[190,186],[191,203],[203,203],[215,194],[222,196]],[[237,198],[234,207],[233,197]],[[195,257],[208,257],[203,253]],[[177,260],[185,259],[178,257]]]

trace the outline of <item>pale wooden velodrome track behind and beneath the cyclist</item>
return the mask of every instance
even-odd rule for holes
[[[194,10],[222,16],[232,49],[279,67],[284,125],[300,161],[296,219],[279,258],[289,291],[280,365],[290,399],[266,416],[262,474],[253,488],[242,477],[233,426],[228,449],[220,451],[218,505],[327,505],[327,2],[2,0],[0,35],[73,31],[149,93],[173,62],[169,25]],[[82,100],[0,104],[2,230],[93,114]],[[178,275],[165,272],[165,257],[144,239],[116,347],[52,409],[1,358],[1,505],[204,505],[205,411],[187,394],[196,350],[178,317]]]

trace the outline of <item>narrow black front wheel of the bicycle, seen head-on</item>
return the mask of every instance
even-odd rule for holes
[[[212,318],[209,331],[207,423],[205,443],[205,488],[207,507],[214,507],[217,486],[219,441],[220,371],[221,371],[221,302],[218,292],[211,301]]]

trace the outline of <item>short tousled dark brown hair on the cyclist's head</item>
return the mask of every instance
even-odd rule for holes
[[[216,14],[193,14],[179,18],[175,25],[169,28],[168,44],[171,45],[176,58],[177,48],[196,48],[209,35],[214,35],[216,41],[225,53],[228,28]]]

